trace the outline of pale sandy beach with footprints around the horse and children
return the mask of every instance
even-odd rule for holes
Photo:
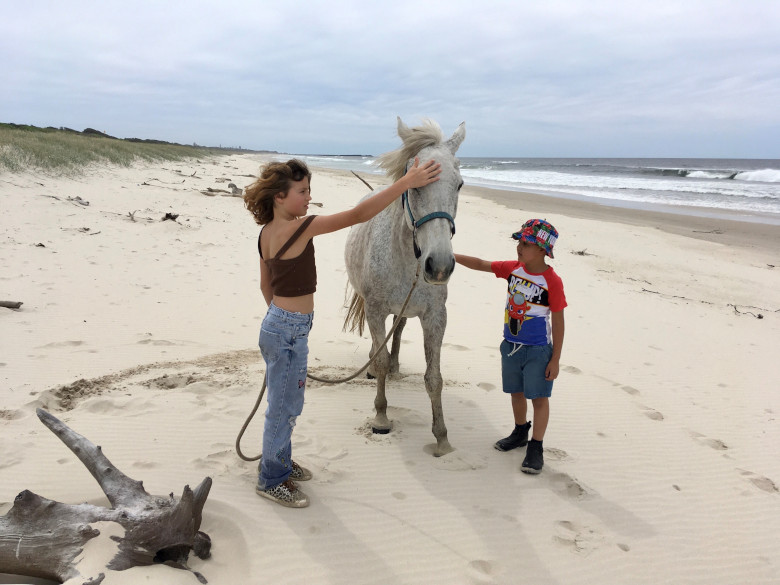
[[[259,228],[227,185],[251,183],[263,160],[0,175],[0,300],[23,302],[0,308],[0,514],[24,489],[106,504],[38,420],[44,408],[150,493],[213,478],[201,527],[212,557],[189,562],[212,584],[780,582],[780,228],[464,188],[456,252],[512,259],[509,235],[531,217],[560,232],[551,264],[569,306],[542,474],[520,472],[524,449],[493,448],[512,428],[505,283],[458,267],[442,349],[455,451],[431,455],[410,321],[390,434],[368,426],[372,381],[308,384],[293,453],[314,474],[312,504],[293,510],[255,494],[256,464],[234,445],[262,382],[266,307]],[[315,213],[366,192],[314,169]],[[351,373],[370,349],[342,331],[346,236],[315,242],[318,376]],[[246,453],[261,432],[258,415]],[[112,546],[90,543],[85,570]],[[197,580],[154,565],[103,581],[138,583]]]

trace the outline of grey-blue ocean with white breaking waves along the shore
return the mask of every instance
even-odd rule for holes
[[[298,156],[313,167],[381,174],[372,156]],[[460,164],[467,185],[780,225],[777,159],[460,157]]]

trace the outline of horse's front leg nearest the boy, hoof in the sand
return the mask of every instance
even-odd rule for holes
[[[421,318],[423,327],[423,345],[425,347],[425,390],[431,399],[433,412],[433,436],[436,437],[434,455],[441,457],[453,451],[447,439],[447,426],[444,424],[444,410],[441,405],[441,342],[447,327],[447,309],[442,308],[435,315],[426,314]]]

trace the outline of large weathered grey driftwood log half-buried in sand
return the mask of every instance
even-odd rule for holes
[[[121,571],[165,563],[191,571],[186,564],[190,551],[201,559],[210,556],[211,539],[199,530],[210,477],[195,491],[185,486],[180,498],[172,493],[166,497],[149,495],[143,482],[114,467],[99,446],[45,410],[39,408],[37,413],[97,480],[111,508],[63,504],[24,490],[0,517],[0,573],[59,582],[83,578],[83,583],[97,585],[104,573],[82,575],[76,564],[85,544],[100,534],[90,526],[96,522],[115,522],[124,529],[123,536],[111,536],[118,547],[107,569]],[[206,583],[201,574],[192,572]]]

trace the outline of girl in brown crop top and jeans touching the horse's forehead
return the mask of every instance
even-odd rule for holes
[[[265,165],[260,178],[247,187],[246,208],[262,225],[260,290],[268,313],[260,329],[260,351],[266,364],[268,409],[263,428],[257,493],[291,508],[309,505],[293,480],[311,479],[311,472],[292,460],[292,430],[303,410],[308,336],[314,317],[317,268],[314,236],[368,221],[407,189],[438,181],[441,166],[419,160],[401,179],[364,199],[352,209],[333,215],[306,216],[311,201],[311,173],[302,161]]]

